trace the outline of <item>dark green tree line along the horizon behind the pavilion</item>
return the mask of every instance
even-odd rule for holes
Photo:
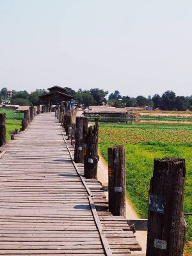
[[[116,90],[114,93],[108,95],[108,91],[92,88],[90,90],[79,89],[77,92],[72,88],[65,87],[66,93],[72,95],[78,104],[84,104],[84,106],[99,106],[103,102],[108,102],[111,106],[116,108],[125,107],[145,107],[152,106],[154,109],[159,108],[162,110],[177,109],[185,111],[187,109],[192,110],[192,95],[191,96],[176,96],[173,91],[166,91],[162,95],[155,94],[153,97],[144,97],[138,95],[137,97],[129,97],[128,95],[120,95],[120,92]],[[36,89],[34,92],[28,93],[26,90],[12,92],[12,104],[19,104],[20,106],[35,106],[40,104],[38,96],[47,93],[44,89]],[[7,88],[0,90],[0,101],[7,100],[8,92]]]

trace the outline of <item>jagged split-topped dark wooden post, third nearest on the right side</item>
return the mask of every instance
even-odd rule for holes
[[[86,148],[86,155],[84,156],[84,176],[87,179],[97,179],[97,164],[99,161],[97,152],[99,125],[97,118],[95,122],[94,128],[90,126],[84,138],[84,147]]]

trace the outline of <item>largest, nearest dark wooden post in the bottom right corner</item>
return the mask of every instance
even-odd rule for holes
[[[184,159],[154,160],[148,205],[147,256],[182,256],[184,248]]]

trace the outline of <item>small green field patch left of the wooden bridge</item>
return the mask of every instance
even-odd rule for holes
[[[15,109],[6,108],[0,108],[0,113],[6,113],[6,140],[9,141],[11,136],[8,131],[21,128],[23,113],[15,111]]]

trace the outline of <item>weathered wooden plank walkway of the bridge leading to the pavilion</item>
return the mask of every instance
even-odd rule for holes
[[[1,147],[0,255],[130,255],[141,250],[123,217],[112,216],[97,180],[72,161],[54,113],[35,117]],[[136,254],[134,254],[136,255]]]

